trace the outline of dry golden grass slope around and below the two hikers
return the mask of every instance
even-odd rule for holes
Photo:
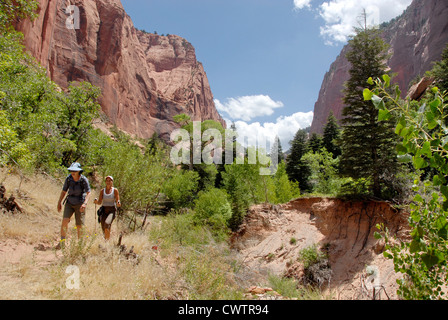
[[[225,247],[211,243],[204,229],[190,228],[188,219],[157,217],[145,232],[125,234],[122,243],[126,251],[133,247],[138,256],[133,258],[116,245],[126,227],[114,222],[111,240],[105,241],[91,203],[82,240],[78,240],[72,221],[65,248],[55,250],[62,219],[56,210],[62,181],[45,175],[22,179],[0,169],[0,183],[8,195],[14,193],[24,209],[23,213],[0,212],[0,299],[242,296]],[[76,276],[73,267],[79,271],[79,288],[70,285]]]

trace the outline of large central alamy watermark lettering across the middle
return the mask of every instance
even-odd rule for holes
[[[251,140],[256,141],[256,146],[247,148],[246,152],[242,145],[233,143],[236,133],[233,130],[224,130],[224,137],[218,129],[210,128],[202,131],[202,123],[193,121],[193,131],[190,134],[185,129],[176,129],[170,139],[175,143],[171,149],[170,159],[172,163],[179,164],[260,164],[260,175],[274,175],[278,166],[278,137],[274,141],[262,134],[256,134]],[[249,137],[240,137],[243,141]],[[249,139],[247,139],[249,140]],[[224,144],[223,144],[224,142]],[[224,145],[224,150],[223,146]],[[266,150],[270,150],[269,156]]]

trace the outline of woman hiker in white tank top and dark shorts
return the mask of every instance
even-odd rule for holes
[[[112,176],[107,176],[106,188],[101,190],[99,199],[93,201],[95,204],[102,204],[102,207],[100,208],[102,212],[98,220],[101,223],[101,228],[103,229],[104,238],[106,240],[109,240],[110,238],[110,228],[115,219],[116,207],[121,207],[118,189],[114,188],[113,184],[114,178]]]

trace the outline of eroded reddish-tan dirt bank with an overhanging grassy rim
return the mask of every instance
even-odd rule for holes
[[[405,234],[406,215],[386,202],[303,198],[280,206],[257,205],[232,246],[260,276],[294,273],[302,249],[325,246],[332,271],[326,293],[333,299],[372,299],[374,289],[377,299],[397,299],[399,275],[383,257],[382,242],[374,238],[377,223],[398,236]]]

